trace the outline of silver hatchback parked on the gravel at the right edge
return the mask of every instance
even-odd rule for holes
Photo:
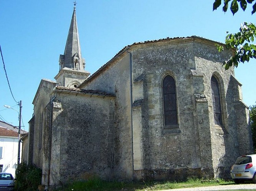
[[[252,180],[256,184],[256,154],[238,157],[231,167],[230,175],[235,183]]]

